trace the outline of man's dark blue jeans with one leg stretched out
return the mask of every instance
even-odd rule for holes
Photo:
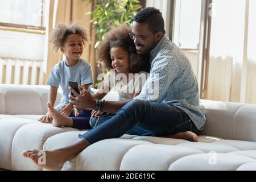
[[[134,126],[139,126],[156,136],[189,130],[198,133],[196,126],[183,110],[164,103],[132,100],[112,118],[79,135],[79,138],[93,144],[103,139],[119,138]]]

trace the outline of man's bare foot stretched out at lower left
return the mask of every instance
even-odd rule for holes
[[[38,167],[51,170],[60,170],[66,160],[63,158],[63,152],[27,150],[23,151],[25,158],[31,159]]]

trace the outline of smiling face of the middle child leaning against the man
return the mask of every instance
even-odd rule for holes
[[[112,60],[112,67],[118,73],[129,73],[130,59],[129,53],[122,47],[112,47],[110,49],[110,59]]]

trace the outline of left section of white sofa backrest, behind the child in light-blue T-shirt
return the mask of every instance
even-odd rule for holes
[[[48,85],[0,84],[0,114],[46,114]],[[60,102],[57,93],[55,105]]]

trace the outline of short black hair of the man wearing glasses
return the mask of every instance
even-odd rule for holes
[[[155,7],[146,7],[139,11],[133,19],[137,23],[147,23],[148,29],[151,32],[162,31],[163,34],[166,33],[164,30],[164,19],[162,13]]]

